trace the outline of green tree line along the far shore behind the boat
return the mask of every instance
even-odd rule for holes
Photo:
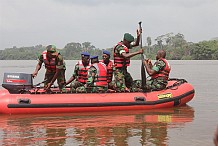
[[[155,38],[155,43],[152,42],[151,37],[147,37],[143,41],[146,42],[143,44],[143,48],[147,58],[155,59],[156,52],[159,49],[165,49],[168,60],[218,60],[218,38],[193,43],[187,42],[181,33],[167,33]],[[20,48],[14,46],[0,50],[0,60],[35,60],[45,49],[46,46],[42,45]],[[139,47],[133,48],[130,52],[138,49]],[[84,51],[91,55],[102,56],[102,50],[108,50],[113,54],[113,46],[99,49],[91,42],[71,42],[65,45],[63,49],[58,49],[65,60],[79,60],[81,59],[80,53]],[[113,55],[111,55],[111,58],[113,58]],[[139,60],[140,55],[134,56],[132,59]]]

